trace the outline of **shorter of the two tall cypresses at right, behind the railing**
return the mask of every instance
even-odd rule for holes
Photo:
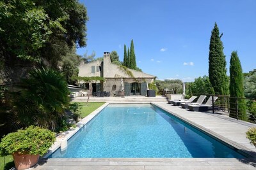
[[[237,52],[231,53],[230,58],[230,117],[237,117],[241,120],[246,120],[246,102],[244,99],[243,71]],[[234,99],[232,97],[237,97]]]

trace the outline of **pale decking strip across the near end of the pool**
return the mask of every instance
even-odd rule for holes
[[[35,167],[55,169],[255,169],[252,159],[48,159]],[[34,168],[31,168],[34,169]]]

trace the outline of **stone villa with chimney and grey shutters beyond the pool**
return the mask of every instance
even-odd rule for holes
[[[81,77],[102,77],[105,81],[95,81],[92,83],[93,92],[108,92],[109,96],[146,96],[148,84],[153,83],[156,76],[152,76],[141,71],[129,69],[111,63],[110,53],[104,52],[103,61],[79,65]],[[80,81],[80,86],[88,89],[89,83]]]

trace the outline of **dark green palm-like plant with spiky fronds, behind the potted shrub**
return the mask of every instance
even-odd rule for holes
[[[68,105],[67,82],[53,69],[34,69],[13,93],[12,124],[15,128],[37,125],[55,130]]]

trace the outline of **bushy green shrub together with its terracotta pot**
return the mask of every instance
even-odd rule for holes
[[[18,170],[27,169],[38,162],[40,155],[47,153],[55,139],[54,132],[31,125],[4,136],[0,143],[0,153],[12,154]]]

